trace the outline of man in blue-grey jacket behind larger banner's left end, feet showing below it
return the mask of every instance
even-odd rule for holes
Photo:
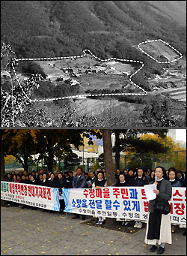
[[[86,188],[86,178],[82,175],[81,167],[77,168],[76,175],[73,177],[73,188]],[[80,218],[80,215],[76,214],[72,218]],[[82,220],[85,220],[85,215],[82,215]]]

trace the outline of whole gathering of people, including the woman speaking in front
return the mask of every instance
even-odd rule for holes
[[[138,167],[134,169],[127,169],[120,171],[116,170],[114,173],[115,182],[112,186],[144,186],[148,184],[155,184],[156,199],[150,200],[148,207],[147,229],[144,242],[153,245],[150,248],[150,252],[157,250],[157,254],[163,254],[165,251],[165,243],[171,244],[171,233],[176,232],[176,225],[171,225],[170,215],[165,212],[160,212],[160,209],[156,208],[158,202],[168,203],[168,200],[172,197],[172,187],[186,187],[186,172],[176,170],[174,167],[170,167],[165,170],[164,167],[156,167],[155,170],[145,169],[144,167]],[[90,170],[85,173],[81,167],[78,167],[76,171],[62,172],[60,170],[55,172],[46,173],[45,170],[40,169],[37,173],[34,170],[31,173],[27,171],[15,173],[7,173],[8,182],[28,183],[34,185],[43,185],[52,188],[59,188],[59,203],[60,211],[64,213],[65,203],[62,197],[62,188],[102,188],[107,187],[106,173],[103,168],[96,171]],[[161,201],[160,201],[161,200]],[[17,203],[10,202],[13,206],[17,206]],[[169,204],[169,203],[168,203]],[[21,205],[22,208],[31,207],[31,209],[37,209],[34,206]],[[43,209],[46,211],[46,209]],[[53,211],[50,211],[53,212]],[[96,217],[96,216],[95,216]],[[80,218],[79,214],[74,214],[72,218]],[[85,215],[82,215],[82,220],[85,220]],[[102,225],[105,221],[105,217],[99,216],[96,224]],[[122,224],[128,224],[131,219],[125,219]],[[142,221],[136,221],[134,227],[141,228]],[[183,233],[186,236],[186,231]],[[159,247],[158,247],[159,245]]]

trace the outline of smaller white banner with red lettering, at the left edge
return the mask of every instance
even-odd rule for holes
[[[53,211],[60,210],[58,188],[1,181],[1,199]]]

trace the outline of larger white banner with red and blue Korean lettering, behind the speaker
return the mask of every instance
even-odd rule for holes
[[[65,212],[107,218],[147,220],[144,187],[63,188]],[[171,223],[186,224],[186,188],[172,188]]]

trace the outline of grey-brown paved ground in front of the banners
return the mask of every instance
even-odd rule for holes
[[[80,224],[73,215],[1,207],[1,255],[150,255],[145,228],[122,233]],[[86,218],[86,220],[88,217]],[[186,255],[184,229],[172,234],[164,255]],[[156,252],[152,253],[157,255]]]

